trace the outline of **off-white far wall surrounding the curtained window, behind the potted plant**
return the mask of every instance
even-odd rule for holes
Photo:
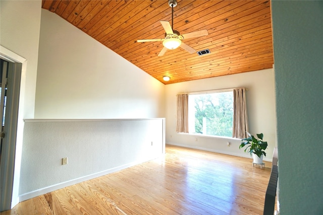
[[[250,157],[242,149],[239,150],[240,139],[201,137],[176,132],[176,94],[236,87],[248,88],[246,97],[249,130],[254,135],[263,133],[264,140],[268,142],[267,156],[264,160],[271,161],[276,146],[273,69],[166,85],[166,144]],[[195,140],[196,138],[197,141]],[[231,143],[230,147],[227,146],[228,141]]]

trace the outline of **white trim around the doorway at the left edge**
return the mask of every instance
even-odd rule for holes
[[[17,120],[17,137],[16,137],[16,147],[11,155],[12,159],[9,161],[10,166],[14,167],[11,176],[7,177],[7,184],[11,184],[8,187],[9,191],[12,192],[11,208],[19,203],[19,184],[20,184],[20,168],[21,168],[21,158],[22,158],[22,140],[23,140],[23,130],[24,130],[24,98],[26,89],[26,70],[27,70],[27,60],[14,53],[13,51],[0,45],[0,57],[12,63],[21,63],[21,80],[20,80],[20,92],[19,92],[19,108],[18,108],[18,120]]]

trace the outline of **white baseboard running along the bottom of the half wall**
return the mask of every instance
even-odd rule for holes
[[[163,156],[163,155],[164,154],[161,154],[156,158],[159,158],[160,156]],[[46,194],[48,192],[52,192],[52,191],[55,191],[55,190],[58,190],[58,189],[62,189],[64,187],[68,187],[68,186],[71,186],[71,185],[74,185],[74,184],[78,184],[78,183],[81,183],[83,181],[91,180],[93,178],[97,178],[97,177],[100,177],[100,176],[103,176],[103,175],[118,172],[120,170],[127,169],[129,167],[132,167],[132,166],[135,166],[135,165],[138,165],[138,164],[142,164],[144,162],[148,162],[148,161],[154,160],[156,158],[152,158],[152,159],[148,159],[148,160],[144,160],[144,161],[137,161],[137,162],[128,163],[128,164],[125,164],[125,165],[122,165],[122,166],[119,166],[119,167],[111,168],[109,170],[104,170],[104,171],[97,172],[97,173],[94,173],[94,174],[91,174],[91,175],[83,176],[83,177],[76,178],[76,179],[73,179],[73,180],[70,180],[70,181],[64,181],[64,182],[59,183],[59,184],[51,185],[51,186],[44,187],[44,188],[41,188],[41,189],[38,189],[38,190],[34,190],[34,191],[31,191],[31,192],[28,192],[28,193],[24,193],[24,194],[18,196],[18,198],[19,198],[18,202],[25,201],[27,199],[34,198],[36,196],[43,195],[43,194]]]

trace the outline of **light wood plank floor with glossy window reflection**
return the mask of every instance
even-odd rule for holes
[[[165,157],[56,190],[4,214],[262,214],[271,163],[167,145]]]

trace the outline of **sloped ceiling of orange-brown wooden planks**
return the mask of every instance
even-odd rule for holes
[[[49,10],[164,84],[272,68],[274,63],[269,1],[178,0],[174,30],[186,34],[206,29],[207,36],[184,39],[199,56],[182,48],[157,56],[165,38],[160,20],[172,20],[168,0],[43,0]],[[170,76],[165,82],[163,76]]]

